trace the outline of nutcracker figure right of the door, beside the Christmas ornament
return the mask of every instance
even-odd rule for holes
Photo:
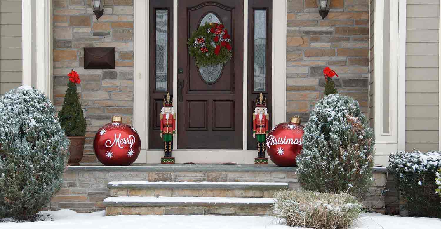
[[[265,157],[265,139],[269,130],[268,120],[266,98],[260,93],[253,114],[253,138],[257,138],[257,158],[254,158],[254,164],[268,164],[268,158]]]

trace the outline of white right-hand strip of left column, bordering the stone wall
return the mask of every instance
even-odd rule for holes
[[[36,11],[36,88],[52,101],[52,0],[38,0]]]

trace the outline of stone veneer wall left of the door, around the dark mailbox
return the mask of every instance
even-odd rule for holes
[[[87,120],[81,163],[97,162],[93,137],[111,116],[133,120],[133,0],[106,0],[97,20],[90,0],[53,0],[53,98],[61,109],[67,73],[80,75],[80,100]],[[115,47],[116,69],[84,69],[84,47]]]

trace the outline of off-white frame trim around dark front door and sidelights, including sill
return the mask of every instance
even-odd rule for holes
[[[247,60],[247,0],[244,0],[244,60]],[[177,4],[174,0],[173,22],[173,94],[177,92]],[[135,163],[160,163],[163,150],[148,149],[148,108],[149,108],[149,0],[135,0],[135,77],[134,77],[134,118],[133,124],[141,138],[141,153]],[[273,0],[273,110],[271,113],[273,124],[286,121],[286,13],[287,0]],[[183,150],[173,151],[176,163],[188,161],[196,162],[229,162],[254,163],[255,150],[245,150],[247,141],[247,61],[244,61],[244,103],[243,103],[243,149],[244,150]],[[177,110],[177,96],[174,96],[175,110]],[[177,116],[179,118],[179,114]],[[175,141],[177,139],[175,138]],[[145,143],[144,143],[145,142]],[[177,144],[174,144],[176,147]],[[228,159],[227,159],[228,158]]]

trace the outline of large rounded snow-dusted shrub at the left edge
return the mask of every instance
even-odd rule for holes
[[[0,100],[0,218],[37,213],[60,189],[69,140],[43,93],[22,86]]]

